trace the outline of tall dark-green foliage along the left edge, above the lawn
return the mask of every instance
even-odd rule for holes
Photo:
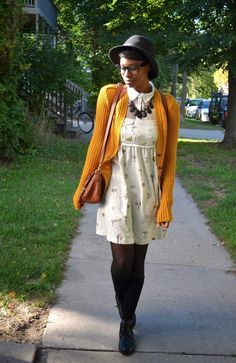
[[[33,146],[33,137],[21,99],[18,79],[21,75],[21,1],[0,4],[0,159],[12,159],[15,153]]]

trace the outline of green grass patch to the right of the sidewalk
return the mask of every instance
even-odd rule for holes
[[[177,175],[236,260],[236,151],[217,142],[181,140]]]

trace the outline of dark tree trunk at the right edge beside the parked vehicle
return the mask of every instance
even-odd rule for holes
[[[223,144],[236,146],[236,74],[229,69],[229,96]]]

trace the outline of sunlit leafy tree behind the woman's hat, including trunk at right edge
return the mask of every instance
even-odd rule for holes
[[[90,72],[96,92],[105,82],[116,79],[107,50],[134,33],[149,35],[156,45],[157,59],[165,58],[170,65],[179,64],[180,70],[188,75],[196,73],[199,66],[210,69],[226,64],[229,106],[224,141],[236,143],[235,0],[65,0],[63,5],[56,0],[56,3],[62,12],[61,24],[71,32],[78,57]]]

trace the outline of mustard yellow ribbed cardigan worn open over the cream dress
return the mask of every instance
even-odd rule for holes
[[[109,117],[110,107],[115,90],[116,85],[104,86],[101,88],[98,96],[94,133],[88,148],[80,182],[73,197],[73,202],[76,209],[82,207],[78,202],[78,198],[84,182],[88,175],[90,175],[98,165],[100,149],[106,129],[106,122]],[[157,222],[167,222],[172,220],[173,187],[176,170],[176,149],[180,121],[179,105],[173,96],[165,95],[165,97],[168,106],[168,121],[160,93],[155,90],[153,103],[158,128],[156,156],[158,176],[161,186],[161,201],[157,211]],[[109,184],[111,176],[112,159],[119,149],[120,130],[126,117],[127,108],[128,95],[126,93],[119,100],[116,106],[109,139],[107,142],[104,163],[102,165],[102,173],[106,181],[106,187]]]

